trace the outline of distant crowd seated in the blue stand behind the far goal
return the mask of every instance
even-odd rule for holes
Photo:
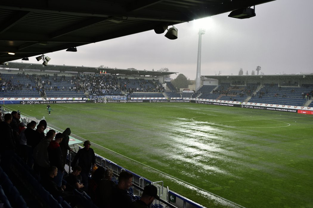
[[[20,80],[27,79],[28,83],[23,84]],[[68,85],[64,87],[64,83]],[[50,74],[25,74],[25,72],[12,75],[4,79],[0,73],[0,85],[3,92],[15,90],[37,91],[44,97],[47,91],[75,91],[89,93],[90,95],[118,95],[121,92],[164,92],[165,88],[156,80],[145,80],[135,78],[130,80],[117,75],[99,75],[76,73],[71,77],[58,76],[57,73]],[[136,87],[131,87],[131,86]]]

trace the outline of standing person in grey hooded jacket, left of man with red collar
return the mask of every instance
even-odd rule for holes
[[[47,171],[50,166],[48,146],[53,140],[54,135],[54,130],[48,131],[47,136],[38,143],[33,151],[34,172],[42,177],[47,175]]]

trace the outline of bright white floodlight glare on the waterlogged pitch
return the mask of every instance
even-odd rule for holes
[[[232,151],[231,146],[228,148],[222,146],[229,140],[225,138],[227,132],[216,125],[211,126],[208,122],[202,121],[177,119],[174,125],[177,127],[167,135],[168,141],[171,142],[171,151],[166,155],[167,158],[186,169],[193,169],[195,175],[198,172],[205,173],[207,176],[222,174],[238,178],[231,173],[228,165],[221,166],[221,164],[231,164],[234,157],[241,157]],[[227,167],[227,170],[223,167]],[[190,174],[187,170],[181,173]]]

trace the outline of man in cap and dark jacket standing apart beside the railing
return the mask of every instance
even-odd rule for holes
[[[86,140],[83,145],[84,148],[77,151],[71,164],[72,168],[74,168],[78,161],[78,165],[81,167],[80,176],[82,183],[85,186],[85,190],[88,190],[88,176],[91,166],[96,166],[95,152],[92,148],[90,148],[90,145],[90,141]]]

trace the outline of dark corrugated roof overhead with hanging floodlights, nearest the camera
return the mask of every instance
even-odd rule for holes
[[[3,0],[0,63],[270,1],[274,0]]]

